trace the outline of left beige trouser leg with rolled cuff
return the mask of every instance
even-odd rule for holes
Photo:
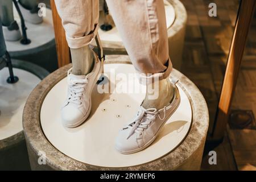
[[[87,46],[98,31],[98,0],[55,0],[70,48]]]

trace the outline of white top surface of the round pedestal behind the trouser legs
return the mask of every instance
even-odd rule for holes
[[[175,10],[170,2],[164,0],[164,8],[166,11],[166,25],[167,28],[171,27],[175,20]],[[111,13],[111,12],[110,12]],[[101,28],[98,29],[98,34],[100,35],[101,41],[108,42],[122,42],[121,36],[117,31],[117,27],[113,27],[112,30],[103,31]]]

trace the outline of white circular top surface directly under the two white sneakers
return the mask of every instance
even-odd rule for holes
[[[124,73],[127,76],[129,73],[135,73],[131,64],[104,65],[104,71],[108,75],[112,69],[115,75]],[[121,82],[125,81],[125,79],[117,80],[114,84],[113,80],[110,79],[112,86],[122,85]],[[141,85],[137,80],[134,88],[139,87]],[[180,86],[178,88],[181,96],[180,106],[168,119],[154,143],[135,154],[119,154],[114,148],[114,141],[118,131],[137,113],[145,96],[145,86],[142,86],[141,93],[127,94],[100,94],[96,86],[92,93],[93,104],[89,118],[81,126],[69,129],[61,124],[60,118],[60,109],[67,94],[67,77],[65,77],[53,86],[45,97],[40,111],[40,122],[48,141],[70,158],[101,167],[129,167],[144,164],[170,153],[187,137],[192,123],[192,110],[187,95]]]

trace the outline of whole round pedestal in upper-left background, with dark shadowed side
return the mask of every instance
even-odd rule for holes
[[[19,24],[20,32],[22,32],[20,18],[15,7],[14,18]],[[53,60],[56,60],[56,47],[51,10],[46,9],[46,16],[43,17],[42,23],[25,23],[27,37],[31,40],[31,43],[23,45],[20,40],[15,42],[6,41],[7,51],[9,51],[12,58],[30,61],[53,71],[54,68],[57,68],[57,63],[53,63]]]

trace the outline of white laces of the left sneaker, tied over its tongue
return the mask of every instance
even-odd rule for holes
[[[75,80],[71,80],[68,83],[68,100],[67,102],[81,105],[81,97],[82,92],[86,89],[86,85],[88,84],[87,78],[76,78]]]

